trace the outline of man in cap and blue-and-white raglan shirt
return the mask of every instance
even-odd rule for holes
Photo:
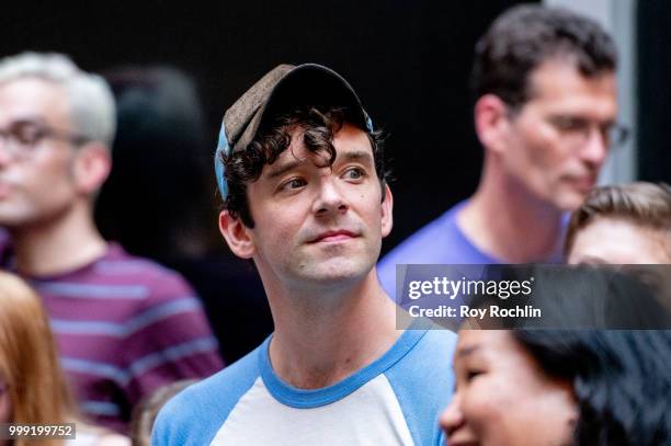
[[[393,197],[349,83],[275,68],[226,112],[216,170],[221,233],[253,259],[275,331],[171,400],[152,444],[437,444],[455,336],[397,320],[377,281]]]

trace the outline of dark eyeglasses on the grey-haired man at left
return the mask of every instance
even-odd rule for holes
[[[30,156],[44,139],[56,139],[81,146],[90,139],[67,130],[49,127],[35,121],[15,121],[5,128],[0,128],[0,139],[4,150],[15,158]]]

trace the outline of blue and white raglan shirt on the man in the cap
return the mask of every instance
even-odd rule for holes
[[[317,390],[283,382],[271,338],[170,400],[153,446],[439,445],[437,419],[454,388],[456,335],[416,320],[380,358]]]

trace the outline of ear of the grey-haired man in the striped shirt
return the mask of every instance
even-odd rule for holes
[[[110,176],[112,155],[110,149],[100,142],[88,142],[75,149],[72,178],[77,191],[91,195],[95,193]]]

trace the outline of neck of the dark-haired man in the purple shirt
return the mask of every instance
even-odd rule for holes
[[[538,262],[560,250],[562,211],[519,183],[484,175],[476,194],[457,216],[466,237],[507,263]]]

